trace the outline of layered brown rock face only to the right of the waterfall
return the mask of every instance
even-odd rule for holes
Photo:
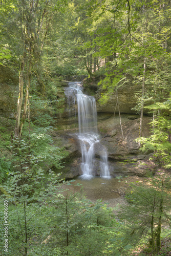
[[[137,116],[138,117],[138,116]],[[121,115],[123,136],[120,128],[119,117],[101,121],[98,127],[104,135],[100,143],[106,147],[109,157],[110,172],[113,176],[138,175],[145,176],[147,172],[154,170],[154,163],[149,160],[151,152],[144,154],[139,150],[135,139],[139,136],[140,118],[129,118]],[[143,136],[149,136],[149,122],[151,118],[143,118]]]

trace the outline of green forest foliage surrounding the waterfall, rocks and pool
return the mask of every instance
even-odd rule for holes
[[[170,228],[171,208],[170,15],[168,0],[0,1],[0,69],[15,74],[19,91],[16,120],[2,116],[0,127],[1,225],[8,200],[9,255],[131,255],[143,243],[151,255],[167,255],[161,238],[168,236],[163,223]],[[137,142],[154,152],[162,172],[148,186],[132,185],[119,219],[101,201],[63,191],[72,181],[51,170],[67,157],[50,133],[54,113],[65,107],[60,81],[73,75],[99,81],[101,104],[124,84],[142,88],[135,94]],[[14,81],[7,75],[6,82]],[[144,110],[153,117],[148,138]]]

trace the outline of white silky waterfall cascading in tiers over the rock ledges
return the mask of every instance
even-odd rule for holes
[[[69,88],[66,89],[66,96],[69,101],[69,109],[74,105],[78,113],[79,134],[77,134],[80,141],[80,148],[82,154],[82,178],[91,179],[93,177],[94,160],[95,160],[95,145],[100,143],[100,138],[97,132],[97,111],[96,101],[92,96],[83,94],[83,87],[81,82],[69,82]],[[76,111],[75,111],[76,113]],[[108,153],[105,147],[102,147],[100,155],[100,176],[103,178],[110,178],[108,166]]]

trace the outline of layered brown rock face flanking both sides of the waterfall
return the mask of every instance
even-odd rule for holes
[[[103,117],[105,114],[103,114]],[[103,118],[98,121],[98,131],[101,134],[100,143],[95,144],[95,161],[94,175],[100,175],[100,156],[103,154],[104,148],[108,151],[109,168],[113,177],[137,175],[145,176],[149,171],[153,172],[155,165],[149,160],[152,153],[144,154],[138,148],[138,143],[134,140],[139,136],[139,116],[136,119],[130,119],[128,115],[121,115],[122,129],[124,141],[120,129],[119,115],[115,118]],[[143,136],[149,136],[149,122],[151,118],[144,117],[143,119]],[[67,164],[62,172],[64,178],[74,178],[81,175],[81,150],[79,141],[74,133],[78,130],[71,129],[72,125],[68,125],[66,130],[58,131],[55,137],[59,147],[64,146],[68,152],[66,158]]]

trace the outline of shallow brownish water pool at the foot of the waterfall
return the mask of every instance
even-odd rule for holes
[[[77,176],[73,179],[75,181],[71,182],[71,186],[63,185],[63,188],[68,189],[65,194],[81,191],[81,194],[83,193],[92,202],[102,199],[103,202],[108,203],[109,207],[114,208],[113,212],[117,214],[119,206],[127,204],[124,195],[130,184],[132,182],[145,182],[144,179],[146,178],[126,176],[120,179],[114,177],[103,179],[99,176],[94,176],[90,180],[83,180],[82,176]],[[77,183],[81,184],[81,186],[75,186]]]

